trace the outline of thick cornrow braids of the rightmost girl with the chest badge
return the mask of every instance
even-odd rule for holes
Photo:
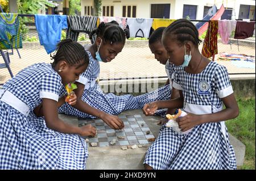
[[[199,45],[201,40],[199,39],[199,33],[195,25],[187,19],[178,19],[171,23],[163,33],[168,35],[175,35],[176,40],[181,44],[191,41],[195,45]]]

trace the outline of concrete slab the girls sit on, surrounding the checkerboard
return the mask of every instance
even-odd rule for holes
[[[150,131],[155,137],[158,137],[160,126],[157,125],[159,116],[144,116],[142,110],[124,111],[118,116],[124,115],[140,115],[150,128]],[[78,120],[73,116],[60,115],[61,119],[67,121],[69,124],[78,125]],[[237,166],[243,165],[245,157],[245,145],[231,134],[230,142],[234,146],[234,151],[237,158]],[[143,161],[146,155],[147,148],[127,149],[122,150],[122,146],[104,146],[92,147],[88,144],[89,157],[86,161],[86,169],[88,170],[141,170],[144,169]]]

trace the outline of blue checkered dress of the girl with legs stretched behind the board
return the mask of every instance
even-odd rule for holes
[[[100,74],[100,63],[92,57],[90,52],[88,52],[88,54],[88,68],[80,75],[77,82],[85,85],[84,93],[82,94],[81,99],[90,106],[111,115],[118,115],[125,110],[141,109],[144,104],[154,100],[170,99],[170,86],[161,87],[156,91],[143,94],[141,96],[133,96],[128,94],[117,96],[113,93],[105,94],[96,81]],[[170,71],[172,72],[173,70],[170,68]],[[165,112],[166,111],[164,110],[164,113]],[[59,113],[65,113],[67,115],[78,117],[95,118],[95,116],[88,115],[85,112],[81,112],[76,108],[73,108],[68,103],[63,104],[63,106],[59,108]]]

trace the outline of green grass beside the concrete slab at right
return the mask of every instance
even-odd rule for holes
[[[237,99],[240,115],[226,121],[228,131],[246,146],[245,162],[238,169],[255,170],[255,98]]]

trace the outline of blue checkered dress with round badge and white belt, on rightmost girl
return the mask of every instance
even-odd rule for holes
[[[184,110],[203,114],[222,110],[220,98],[232,94],[228,71],[210,62],[199,74],[177,68],[174,87],[182,90]],[[204,85],[201,82],[204,81]],[[228,92],[228,93],[227,93]],[[193,109],[194,108],[194,109]],[[147,151],[144,163],[153,169],[236,169],[236,157],[224,123],[197,125],[188,134],[178,134],[163,125],[159,136]],[[222,131],[222,128],[223,131]]]

